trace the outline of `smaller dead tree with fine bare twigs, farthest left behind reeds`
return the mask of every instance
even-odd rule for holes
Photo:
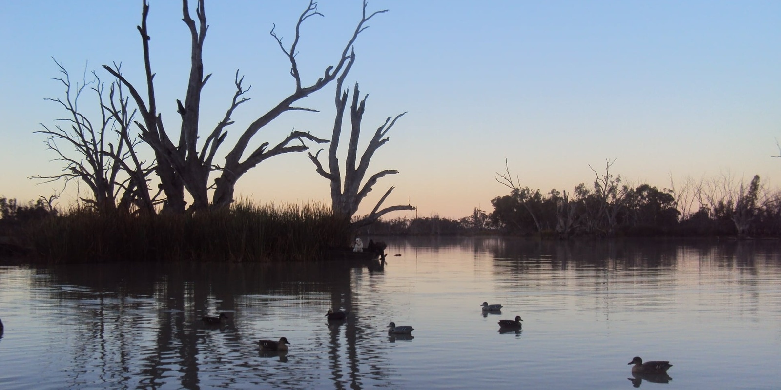
[[[131,140],[129,129],[135,111],[128,108],[129,98],[124,95],[122,85],[109,84],[108,96],[105,96],[105,84],[95,72],[92,80],[73,85],[70,74],[55,60],[60,77],[54,77],[65,86],[65,99],[45,98],[65,108],[67,118],[57,119],[69,126],[55,126],[53,129],[43,126],[42,133],[48,136],[46,145],[59,155],[57,160],[65,163],[62,173],[56,176],[34,176],[43,183],[65,179],[80,179],[91,190],[92,199],[82,199],[98,211],[109,212],[116,209],[130,211],[131,207],[145,212],[154,212],[154,197],[149,193],[147,178],[152,172],[154,162],[142,161],[135,148],[139,141]],[[114,67],[117,74],[119,66]],[[90,119],[90,115],[79,108],[79,100],[84,90],[95,92],[98,101],[100,122]],[[62,141],[70,148],[61,146]],[[116,146],[115,146],[116,144]],[[72,149],[72,150],[69,150]],[[74,153],[75,152],[75,153]],[[75,154],[75,155],[74,155]]]

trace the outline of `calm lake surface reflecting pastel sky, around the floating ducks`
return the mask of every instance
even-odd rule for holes
[[[777,242],[388,243],[383,268],[0,266],[0,388],[781,388]]]

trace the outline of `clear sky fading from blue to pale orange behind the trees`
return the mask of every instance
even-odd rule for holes
[[[189,32],[181,3],[150,0],[152,69],[166,127],[175,129],[176,99],[184,99]],[[201,131],[224,115],[234,74],[244,75],[251,100],[241,105],[226,145],[250,122],[291,93],[290,65],[269,35],[289,44],[305,0],[206,0],[209,31]],[[194,4],[191,11],[194,12]],[[520,186],[544,193],[593,183],[607,160],[627,183],[659,189],[686,178],[754,174],[781,181],[781,2],[373,0],[355,43],[345,87],[369,94],[364,136],[388,116],[407,112],[376,152],[369,173],[398,169],[374,187],[366,213],[390,186],[384,204],[416,211],[391,217],[461,218],[508,193],[497,183],[505,161]],[[297,59],[311,83],[338,61],[360,18],[358,0],[321,0],[323,17],[301,29]],[[35,200],[60,193],[41,183],[62,169],[41,124],[66,112],[45,97],[64,97],[52,58],[72,80],[121,62],[141,86],[143,58],[136,30],[141,1],[27,0],[0,12],[0,196]],[[300,105],[319,112],[281,116],[252,145],[276,144],[291,130],[330,139],[335,83]],[[89,105],[82,97],[82,107]],[[88,110],[89,108],[87,108]],[[347,131],[347,129],[345,129]],[[312,145],[317,151],[318,145]],[[223,146],[216,162],[229,150]],[[344,146],[340,151],[344,151]],[[325,154],[325,152],[323,152]],[[151,156],[151,154],[149,154]],[[71,182],[59,204],[84,196]],[[330,186],[305,153],[262,162],[243,176],[237,198],[257,203],[330,204]]]

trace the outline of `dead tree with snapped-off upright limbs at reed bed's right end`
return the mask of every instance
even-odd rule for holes
[[[366,151],[358,159],[358,137],[361,135],[361,121],[363,119],[363,112],[366,111],[366,95],[358,102],[358,83],[355,83],[355,89],[352,93],[352,105],[350,107],[350,120],[351,120],[351,132],[350,140],[347,150],[347,161],[345,161],[344,177],[341,173],[341,167],[339,166],[339,158],[337,158],[337,148],[339,147],[339,141],[341,138],[342,121],[344,119],[344,111],[347,108],[348,90],[342,90],[342,83],[344,83],[344,76],[347,73],[343,73],[337,80],[337,94],[336,94],[336,107],[337,114],[333,121],[333,133],[331,136],[330,146],[328,148],[328,169],[330,172],[326,172],[323,168],[323,164],[319,161],[319,154],[323,149],[317,151],[316,154],[309,153],[309,159],[315,164],[317,172],[320,176],[328,179],[331,183],[331,203],[333,207],[334,215],[341,215],[344,218],[351,219],[355,212],[358,211],[358,206],[362,200],[369,194],[372,187],[377,183],[377,180],[387,175],[395,175],[398,173],[395,169],[385,169],[380,172],[376,172],[366,183],[362,183],[366,177],[366,170],[369,169],[369,161],[371,161],[374,153],[383,146],[389,138],[385,137],[389,130],[396,124],[396,121],[405,115],[406,112],[402,112],[395,117],[387,117],[382,126],[376,129],[369,145],[366,146]],[[383,202],[387,199],[395,187],[391,186],[383,197],[376,203],[369,215],[359,218],[352,223],[352,226],[357,229],[365,225],[369,225],[375,222],[381,216],[386,215],[391,211],[401,210],[415,210],[415,207],[406,205],[396,205],[391,207],[385,207],[380,210]]]

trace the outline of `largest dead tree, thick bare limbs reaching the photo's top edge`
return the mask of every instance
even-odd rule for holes
[[[211,76],[210,74],[204,76],[202,60],[203,43],[209,27],[206,24],[204,0],[198,0],[198,6],[195,9],[198,23],[191,18],[188,4],[188,0],[182,0],[182,20],[187,25],[191,34],[191,69],[184,103],[182,101],[177,101],[177,112],[181,116],[182,122],[179,140],[176,141],[176,143],[174,143],[169,136],[169,133],[163,125],[162,115],[157,111],[158,108],[157,102],[155,101],[153,83],[155,74],[152,73],[152,60],[149,51],[149,40],[151,38],[146,23],[149,5],[146,0],[143,2],[143,10],[141,12],[141,26],[138,27],[138,31],[141,34],[141,43],[144,48],[144,65],[146,69],[148,93],[146,99],[144,100],[144,97],[141,97],[137,88],[135,88],[130,81],[124,79],[115,72],[112,72],[112,69],[104,66],[129,88],[130,94],[134,97],[134,100],[139,107],[143,123],[137,122],[137,126],[141,129],[142,139],[152,147],[158,159],[157,173],[162,182],[162,188],[165,190],[168,198],[168,204],[166,205],[176,212],[184,212],[185,202],[183,188],[186,188],[187,192],[190,193],[193,198],[193,204],[191,205],[192,211],[203,210],[210,207],[209,190],[212,189],[214,190],[214,193],[211,207],[226,207],[234,200],[234,188],[237,180],[241,178],[244,173],[248,172],[249,169],[254,168],[260,162],[279,154],[307,150],[308,147],[304,144],[304,140],[310,140],[316,143],[327,142],[326,140],[321,140],[312,136],[310,133],[293,131],[284,140],[280,141],[279,144],[276,144],[276,146],[269,148],[270,144],[264,142],[259,147],[255,148],[255,150],[250,151],[247,154],[247,147],[259,130],[268,125],[269,122],[272,122],[279,115],[284,112],[297,110],[316,112],[315,109],[297,107],[294,104],[301,98],[322,89],[328,83],[335,80],[337,76],[347,73],[352,62],[355,60],[355,52],[352,50],[352,46],[355,43],[358,34],[367,28],[366,23],[369,19],[378,13],[387,11],[377,11],[367,16],[367,3],[363,2],[362,18],[358,22],[355,32],[352,34],[347,44],[345,44],[344,51],[336,65],[327,66],[323,76],[316,82],[310,84],[305,84],[301,80],[301,74],[298,71],[298,63],[296,62],[295,56],[297,54],[296,48],[298,46],[298,41],[301,37],[301,25],[311,16],[323,16],[323,14],[317,11],[316,2],[310,1],[308,7],[301,13],[301,16],[299,16],[298,23],[296,23],[295,27],[295,36],[289,48],[284,46],[282,38],[277,36],[274,29],[272,29],[270,34],[274,37],[285,55],[287,55],[287,58],[290,59],[291,76],[293,76],[295,80],[294,91],[292,94],[284,97],[273,108],[269,109],[268,112],[260,115],[258,119],[255,119],[254,122],[244,129],[234,147],[226,155],[225,165],[220,167],[213,162],[213,159],[215,158],[220,145],[223,144],[223,141],[225,140],[227,135],[226,127],[234,123],[230,119],[234,110],[239,105],[249,100],[246,97],[242,97],[249,88],[244,89],[242,86],[244,78],[239,77],[237,71],[235,76],[236,92],[233,100],[226,109],[223,119],[209,132],[209,135],[205,137],[205,140],[203,140],[203,143],[199,147],[198,134],[201,90],[209,80],[209,76]],[[220,176],[215,179],[215,183],[212,186],[209,186],[209,176],[215,170],[220,172]]]

